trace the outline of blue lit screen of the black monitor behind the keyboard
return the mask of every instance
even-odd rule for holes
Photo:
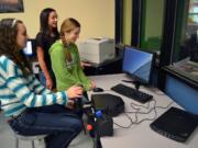
[[[150,82],[153,54],[135,47],[125,47],[122,70],[142,83]]]

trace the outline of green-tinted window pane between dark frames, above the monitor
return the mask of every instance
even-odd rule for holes
[[[164,0],[142,0],[140,47],[160,54],[164,23]]]

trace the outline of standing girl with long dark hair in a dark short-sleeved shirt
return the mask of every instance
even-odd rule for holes
[[[48,49],[58,39],[57,13],[52,8],[44,9],[40,14],[40,32],[36,35],[36,53],[41,67],[40,81],[47,89],[56,88]]]

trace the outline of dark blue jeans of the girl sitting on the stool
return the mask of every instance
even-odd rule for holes
[[[67,148],[82,129],[80,117],[62,105],[26,109],[9,124],[19,135],[48,135],[46,148]]]

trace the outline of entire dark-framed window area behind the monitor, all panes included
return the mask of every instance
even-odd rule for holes
[[[198,86],[198,0],[116,1],[117,44],[157,53],[157,87],[165,87],[164,69]]]

